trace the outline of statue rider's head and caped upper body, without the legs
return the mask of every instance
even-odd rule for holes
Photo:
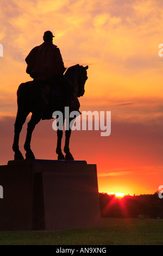
[[[26,72],[34,81],[60,80],[66,70],[59,48],[53,44],[53,38],[52,32],[46,31],[43,44],[34,47],[26,58]]]

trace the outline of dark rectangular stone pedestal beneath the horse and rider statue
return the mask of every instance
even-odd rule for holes
[[[58,230],[101,224],[96,164],[19,160],[0,166],[0,230]]]

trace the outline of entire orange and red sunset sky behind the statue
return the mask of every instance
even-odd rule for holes
[[[89,65],[80,111],[111,111],[110,136],[72,132],[74,159],[97,164],[99,192],[156,192],[163,184],[162,19],[159,0],[1,1],[0,164],[14,159],[16,91],[31,80],[24,59],[50,30],[66,68]],[[28,120],[20,138],[23,155]],[[36,159],[57,159],[52,122],[35,128]]]

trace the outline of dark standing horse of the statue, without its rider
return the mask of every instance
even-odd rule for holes
[[[54,111],[61,111],[64,118],[64,124],[65,106],[69,106],[70,111],[73,111],[74,109],[79,111],[80,103],[78,97],[84,95],[84,86],[87,80],[86,70],[88,68],[88,66],[84,67],[77,64],[71,66],[66,70],[64,74],[64,79],[67,79],[70,82],[70,84],[72,84],[71,88],[65,89],[65,87],[63,86],[63,89],[60,90],[59,88],[53,88],[52,86],[49,86],[45,82],[42,82],[41,84],[41,81],[36,83],[35,86],[34,81],[29,81],[20,84],[20,86],[17,89],[17,115],[14,125],[14,143],[12,145],[12,150],[15,153],[14,160],[24,159],[21,151],[19,150],[18,142],[22,126],[25,123],[26,118],[30,112],[32,113],[32,116],[27,125],[27,136],[26,141],[24,143],[24,150],[26,150],[26,159],[35,159],[34,153],[30,149],[30,142],[35,125],[38,124],[40,120],[51,119],[52,113]],[[45,96],[46,94],[40,94],[40,92],[42,92],[43,90],[46,93],[48,92],[48,95],[50,95],[49,97],[46,97],[44,101],[42,99],[43,96]],[[46,102],[47,99],[49,99],[48,102]],[[74,120],[74,118],[70,118],[69,122],[71,122],[72,120]],[[71,129],[65,130],[65,156],[61,150],[62,135],[63,131],[58,129],[56,149],[56,153],[58,154],[58,160],[74,160],[69,149]]]

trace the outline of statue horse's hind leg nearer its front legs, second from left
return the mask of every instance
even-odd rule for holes
[[[26,150],[26,159],[35,159],[35,156],[30,149],[30,142],[33,130],[35,129],[36,124],[38,124],[40,120],[41,113],[33,113],[30,121],[28,122],[26,142],[24,143],[24,149]]]

